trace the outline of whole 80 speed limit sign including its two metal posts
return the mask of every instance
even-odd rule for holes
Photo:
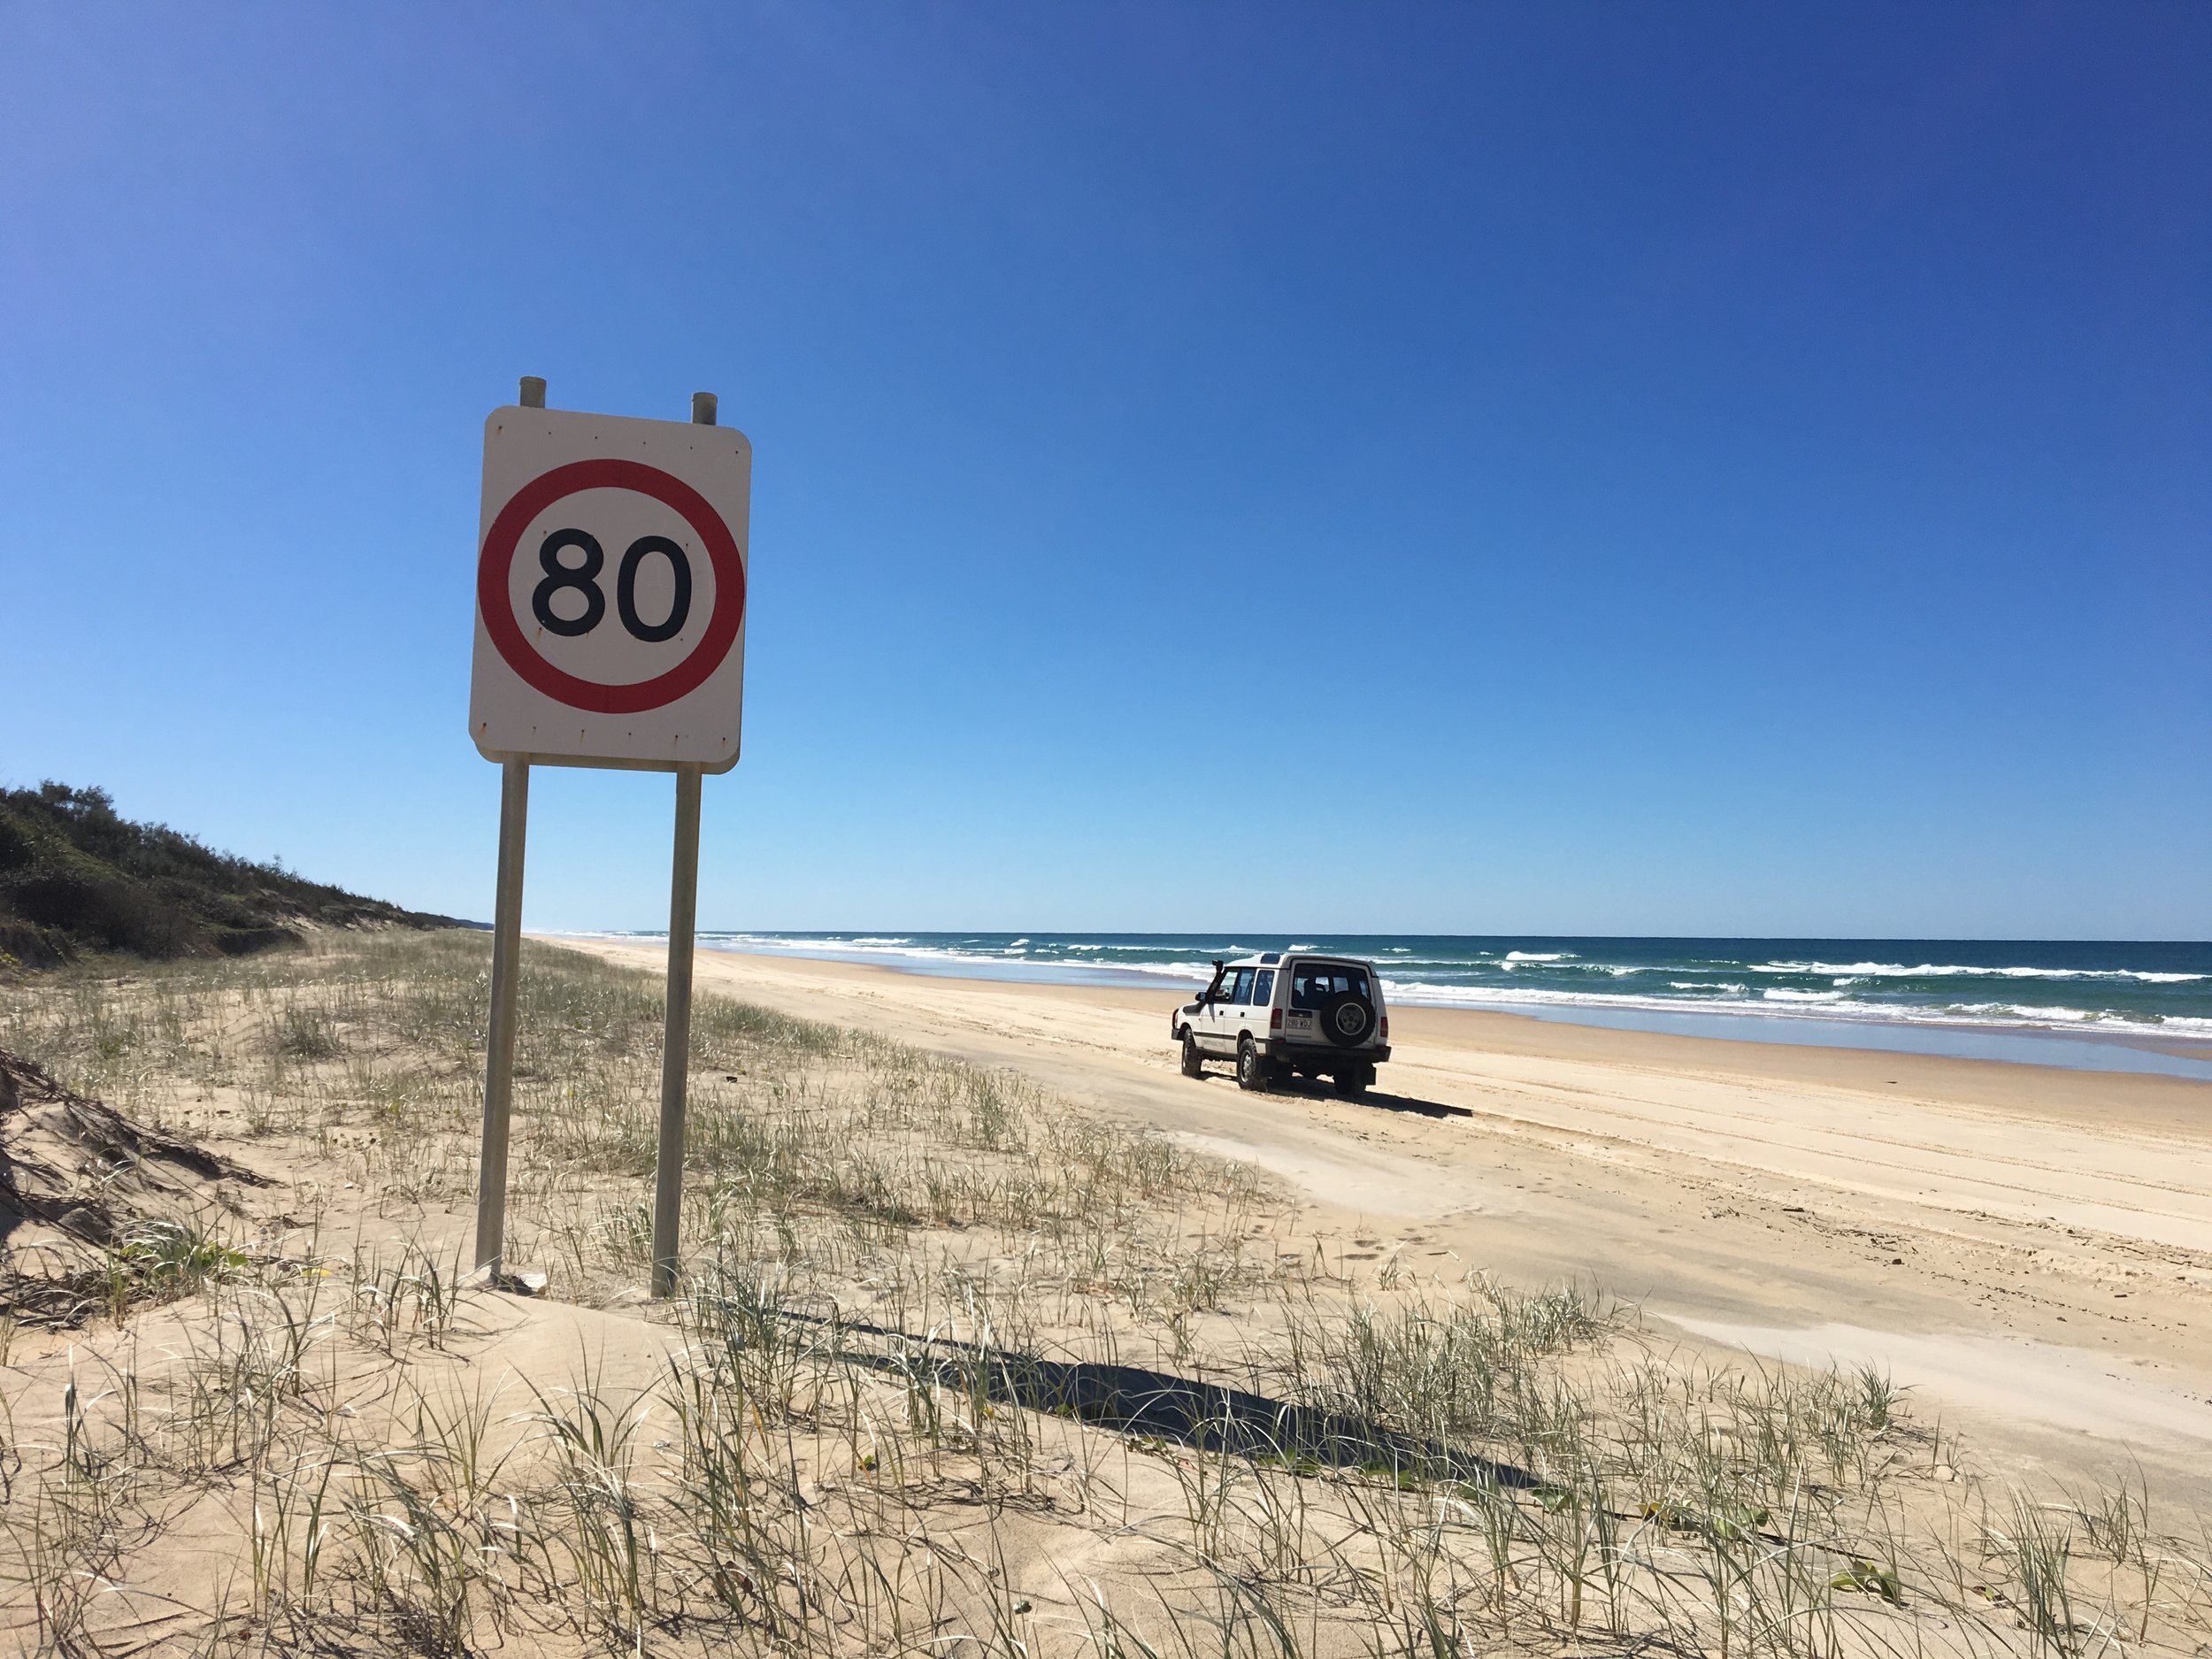
[[[728,772],[739,752],[752,445],[717,429],[712,392],[692,394],[690,422],[675,422],[546,411],[544,389],[524,376],[520,403],[484,422],[469,732],[504,776],[476,1265],[507,1279],[531,765],[675,772],[653,1183],[653,1294],[668,1296],[681,1267],[699,781]]]

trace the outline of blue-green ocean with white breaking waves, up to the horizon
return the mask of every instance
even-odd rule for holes
[[[1206,980],[1214,958],[1316,949],[1376,962],[1400,1004],[2212,1079],[2212,945],[1455,933],[699,933],[699,945],[1161,989]]]

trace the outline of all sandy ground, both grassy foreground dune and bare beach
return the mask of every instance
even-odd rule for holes
[[[2212,1632],[2205,1084],[1398,1009],[1245,1093],[1172,989],[701,951],[655,1301],[641,942],[526,947],[471,1272],[487,945],[0,987],[0,1630]]]

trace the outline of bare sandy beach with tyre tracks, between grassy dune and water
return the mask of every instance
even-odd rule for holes
[[[1398,1009],[1394,1064],[1345,1102],[1181,1077],[1172,991],[730,951],[697,982],[1020,1068],[1272,1170],[1416,1270],[1579,1276],[1659,1340],[1887,1367],[2000,1469],[2141,1462],[2212,1495],[2208,1084]]]

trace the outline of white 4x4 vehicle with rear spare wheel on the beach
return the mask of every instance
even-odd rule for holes
[[[1338,1095],[1358,1095],[1389,1060],[1383,980],[1374,962],[1343,956],[1267,951],[1214,962],[1212,984],[1170,1015],[1170,1031],[1186,1077],[1212,1057],[1234,1060],[1239,1088],[1329,1077]]]

